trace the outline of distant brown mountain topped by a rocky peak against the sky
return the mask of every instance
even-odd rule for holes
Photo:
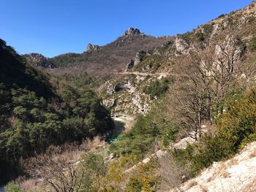
[[[121,37],[108,45],[89,44],[84,53],[66,53],[50,58],[51,64],[57,66],[50,72],[53,74],[87,72],[97,77],[105,77],[111,73],[121,72],[138,51],[154,49],[168,40],[170,37],[152,37],[141,33],[138,28],[129,28]]]

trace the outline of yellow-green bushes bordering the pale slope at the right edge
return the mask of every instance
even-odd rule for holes
[[[187,149],[173,153],[177,162],[189,166],[191,177],[214,161],[230,158],[256,139],[255,91],[238,101],[228,101],[226,110],[217,120],[217,135],[206,136],[197,145],[189,145]]]

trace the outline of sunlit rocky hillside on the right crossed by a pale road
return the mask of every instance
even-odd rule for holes
[[[191,68],[196,63],[200,63],[206,73],[215,74],[219,72],[210,69],[211,66],[224,69],[224,64],[228,64],[230,69],[226,69],[225,75],[233,70],[234,75],[249,81],[255,75],[255,17],[255,3],[252,3],[186,34],[170,37],[165,45],[154,50],[138,52],[127,68],[118,72],[123,77],[102,86],[105,104],[116,115],[144,114],[159,97],[154,93],[150,95],[150,91],[146,93],[147,88],[163,78],[174,81],[169,87],[170,91],[176,90],[183,78],[192,76]],[[115,91],[117,87],[120,88]]]

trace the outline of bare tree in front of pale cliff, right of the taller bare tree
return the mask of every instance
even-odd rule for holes
[[[212,58],[211,76],[214,78],[213,93],[217,101],[224,99],[227,91],[238,80],[241,73],[241,61],[245,46],[238,37],[227,36],[211,49]]]

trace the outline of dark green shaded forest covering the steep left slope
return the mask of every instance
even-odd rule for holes
[[[113,128],[110,112],[96,93],[64,86],[57,95],[45,75],[0,43],[0,170],[18,168],[20,158],[50,145],[81,142]],[[1,172],[0,183],[9,174]]]

